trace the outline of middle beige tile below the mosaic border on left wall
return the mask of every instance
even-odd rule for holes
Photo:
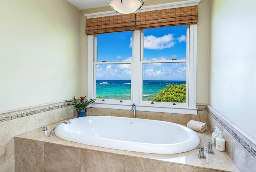
[[[32,131],[37,128],[42,128],[43,126],[52,124],[53,122],[54,122],[54,110],[27,116],[28,131]]]

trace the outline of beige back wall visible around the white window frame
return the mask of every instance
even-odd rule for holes
[[[165,4],[171,2],[178,2],[182,0],[148,0],[144,2],[143,6],[148,5],[156,5],[156,4]],[[210,0],[201,0],[198,5],[198,50],[197,50],[197,81],[196,81],[196,103],[197,104],[207,104],[208,103],[208,66],[209,66],[209,8],[210,8]],[[84,14],[96,13],[96,12],[104,12],[104,11],[112,11],[113,9],[110,7],[102,7],[102,8],[93,8],[87,10],[80,11],[80,34],[81,34],[81,45],[82,48],[80,50],[81,59],[83,60],[83,64],[87,62],[87,36],[84,34],[85,32],[85,20],[86,17]],[[87,72],[86,69],[82,69],[83,73]],[[87,76],[87,75],[86,75]],[[86,77],[85,76],[85,77]],[[86,88],[86,90],[84,90]],[[82,83],[82,93],[87,95],[87,80]]]

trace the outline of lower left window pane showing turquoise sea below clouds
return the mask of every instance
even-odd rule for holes
[[[131,64],[97,64],[96,98],[131,100]]]

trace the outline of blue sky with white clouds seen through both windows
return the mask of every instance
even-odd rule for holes
[[[98,62],[132,61],[132,31],[98,35]],[[144,60],[186,59],[186,26],[144,30]],[[130,64],[100,64],[97,80],[130,80]],[[186,80],[185,63],[144,64],[143,80]]]

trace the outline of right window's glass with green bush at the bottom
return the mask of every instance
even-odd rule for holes
[[[186,25],[143,30],[141,100],[148,101],[144,104],[185,106],[188,102],[187,30]]]

